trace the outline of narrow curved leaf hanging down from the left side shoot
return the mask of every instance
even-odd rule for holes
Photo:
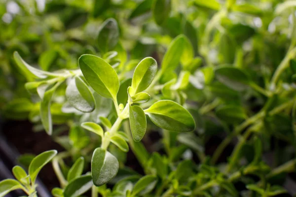
[[[47,134],[52,134],[52,118],[50,113],[50,106],[51,106],[51,98],[56,91],[56,89],[59,87],[61,82],[56,83],[52,88],[47,90],[44,93],[43,99],[40,103],[40,118],[42,125],[47,132]]]

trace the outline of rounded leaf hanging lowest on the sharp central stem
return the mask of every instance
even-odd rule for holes
[[[115,177],[119,168],[117,159],[108,151],[96,148],[91,160],[93,183],[101,186]]]

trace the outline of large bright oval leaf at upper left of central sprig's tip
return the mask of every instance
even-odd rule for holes
[[[119,80],[112,66],[94,55],[82,55],[78,64],[85,80],[98,94],[116,99]]]

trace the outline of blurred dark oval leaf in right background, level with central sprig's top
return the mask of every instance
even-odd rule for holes
[[[244,71],[232,66],[219,66],[215,75],[221,83],[236,91],[245,90],[250,83],[250,78]]]

